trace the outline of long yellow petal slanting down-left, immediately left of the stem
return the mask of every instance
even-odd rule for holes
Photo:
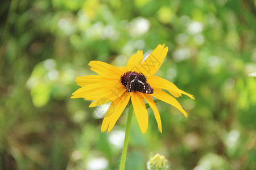
[[[114,100],[110,105],[104,120],[102,121],[101,131],[108,129],[108,132],[113,129],[115,122],[121,116],[123,110],[125,109],[128,101],[130,99],[129,93],[123,93],[121,97],[117,100]]]

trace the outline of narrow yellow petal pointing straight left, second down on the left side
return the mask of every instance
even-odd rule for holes
[[[85,75],[85,76],[79,76],[76,78],[77,85],[79,86],[86,86],[88,84],[92,83],[98,83],[98,82],[108,82],[113,80],[119,80],[115,76],[106,76],[106,75]]]

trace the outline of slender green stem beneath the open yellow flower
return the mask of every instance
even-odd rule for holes
[[[129,111],[128,111],[128,117],[127,117],[126,130],[125,130],[125,142],[123,142],[123,152],[122,152],[122,158],[121,158],[119,170],[125,169],[125,159],[126,159],[126,154],[127,154],[127,147],[128,147],[128,142],[129,142],[132,117],[133,117],[133,104],[131,104],[129,102]]]

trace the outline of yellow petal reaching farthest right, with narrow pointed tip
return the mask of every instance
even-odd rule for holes
[[[195,99],[193,97],[193,95],[190,95],[190,94],[180,90],[179,88],[177,88],[177,86],[175,86],[174,83],[169,82],[168,80],[160,78],[158,76],[155,76],[155,75],[149,76],[147,78],[147,82],[153,88],[157,87],[157,88],[168,90],[168,92],[170,92],[175,97],[179,97],[179,96],[181,96],[181,94],[184,94],[184,95],[187,95],[188,97],[190,97],[191,99]]]

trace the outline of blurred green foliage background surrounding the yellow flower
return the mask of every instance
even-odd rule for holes
[[[1,1],[1,169],[118,169],[127,111],[101,133],[102,111],[70,99],[91,60],[125,66],[138,49],[169,51],[156,75],[195,95],[133,117],[126,169],[150,153],[170,169],[256,169],[256,1]]]

